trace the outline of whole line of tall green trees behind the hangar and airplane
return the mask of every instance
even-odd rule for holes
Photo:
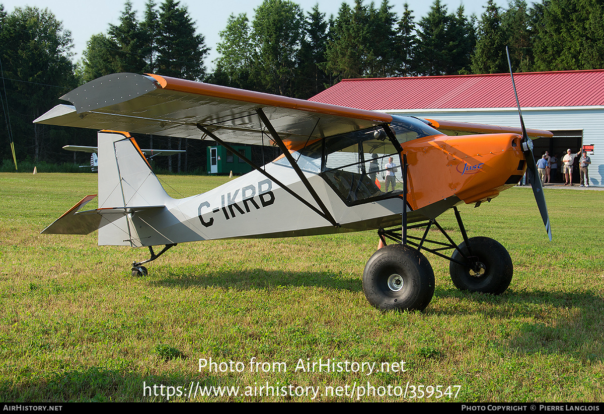
[[[303,11],[294,1],[265,0],[254,16],[231,14],[208,71],[204,36],[175,0],[149,0],[141,20],[126,2],[118,24],[92,36],[77,63],[71,33],[51,11],[9,14],[0,5],[1,159],[11,158],[11,140],[18,158],[36,161],[69,161],[62,145],[94,145],[95,133],[31,121],[72,88],[115,72],[309,98],[344,78],[507,72],[506,46],[516,72],[604,68],[604,0],[510,0],[506,8],[488,0],[480,17],[434,0],[426,16],[413,13],[408,4],[355,0],[327,17],[320,5]],[[183,145],[158,139],[156,146]],[[175,169],[190,164],[178,158]]]

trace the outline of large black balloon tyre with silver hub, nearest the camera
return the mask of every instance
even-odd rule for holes
[[[419,250],[390,244],[367,261],[363,292],[381,310],[423,310],[434,295],[434,272]]]

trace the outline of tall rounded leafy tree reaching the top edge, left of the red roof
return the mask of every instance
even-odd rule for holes
[[[294,95],[296,53],[303,39],[304,17],[289,0],[265,0],[255,10],[254,39],[259,56],[258,79],[266,92]]]

